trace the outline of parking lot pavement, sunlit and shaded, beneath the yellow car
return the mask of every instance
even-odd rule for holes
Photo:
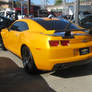
[[[59,72],[24,72],[21,60],[0,50],[0,92],[91,92],[92,63]]]

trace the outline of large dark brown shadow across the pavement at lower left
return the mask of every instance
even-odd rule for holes
[[[55,92],[38,75],[28,75],[11,59],[0,57],[0,92]]]

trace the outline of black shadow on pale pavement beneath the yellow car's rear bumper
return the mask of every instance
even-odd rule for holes
[[[62,78],[72,78],[72,77],[81,77],[81,76],[87,76],[92,75],[92,63],[71,67],[68,69],[64,69],[61,71],[56,71],[52,73],[51,75],[62,77]]]

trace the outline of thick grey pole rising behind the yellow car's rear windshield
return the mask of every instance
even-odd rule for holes
[[[80,9],[80,0],[75,0],[74,4],[74,19],[75,23],[79,24],[79,9]]]

